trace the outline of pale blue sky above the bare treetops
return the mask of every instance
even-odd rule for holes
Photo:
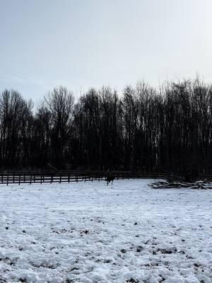
[[[0,93],[212,82],[211,0],[0,0]]]

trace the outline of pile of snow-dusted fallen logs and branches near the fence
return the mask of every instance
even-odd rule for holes
[[[189,189],[203,189],[203,190],[208,190],[208,189],[212,189],[212,183],[204,180],[204,181],[196,181],[194,183],[187,183],[187,182],[167,182],[167,181],[158,181],[155,183],[152,183],[150,185],[151,187],[153,187],[153,189],[170,189],[172,187],[187,187]]]

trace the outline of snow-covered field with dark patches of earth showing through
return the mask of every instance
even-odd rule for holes
[[[212,190],[0,187],[0,282],[212,282]]]

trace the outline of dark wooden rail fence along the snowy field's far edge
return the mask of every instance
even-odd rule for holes
[[[131,171],[111,171],[115,180],[130,178],[165,178],[162,173],[135,174]],[[0,184],[71,183],[106,180],[107,171],[0,171]]]

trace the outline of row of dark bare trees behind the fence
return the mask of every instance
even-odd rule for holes
[[[0,167],[124,171],[210,171],[212,84],[199,78],[141,81],[122,96],[63,86],[35,109],[18,91],[0,96]]]

